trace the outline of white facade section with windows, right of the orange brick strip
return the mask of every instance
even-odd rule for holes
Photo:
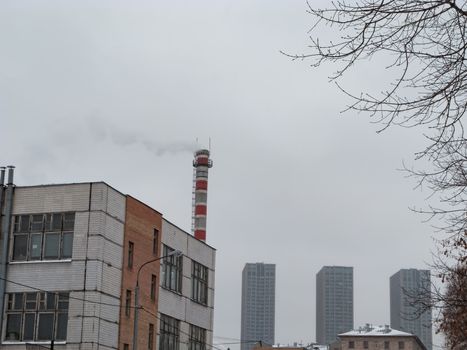
[[[163,255],[178,250],[183,256],[161,264],[159,349],[177,350],[170,344],[178,339],[180,350],[210,350],[215,250],[165,219],[162,232]]]

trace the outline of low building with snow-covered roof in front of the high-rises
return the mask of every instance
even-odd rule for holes
[[[366,325],[339,334],[330,350],[426,350],[417,336],[391,329],[389,326]]]

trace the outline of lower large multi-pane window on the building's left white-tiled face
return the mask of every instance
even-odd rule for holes
[[[66,340],[68,292],[7,294],[5,340]]]

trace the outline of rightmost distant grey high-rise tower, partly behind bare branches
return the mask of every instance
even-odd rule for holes
[[[402,269],[390,278],[391,327],[415,334],[428,350],[432,349],[431,310],[418,300],[429,298],[429,270]]]

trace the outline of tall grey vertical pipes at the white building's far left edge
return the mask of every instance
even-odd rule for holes
[[[13,211],[13,191],[15,185],[13,184],[13,174],[15,167],[12,165],[8,166],[8,180],[7,186],[4,190],[3,181],[5,179],[5,168],[0,169],[0,180],[3,180],[0,184],[2,190],[2,197],[4,197],[4,205],[2,208],[2,221],[1,221],[1,231],[0,231],[0,336],[3,338],[3,307],[5,305],[5,286],[6,281],[6,266],[8,263],[8,242],[10,236],[10,227],[11,227],[11,214]],[[5,192],[3,194],[3,192]],[[3,199],[3,198],[2,198]]]

